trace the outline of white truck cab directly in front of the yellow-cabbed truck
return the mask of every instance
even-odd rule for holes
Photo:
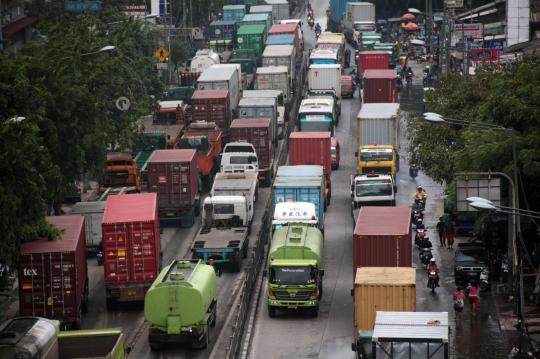
[[[361,206],[395,206],[396,193],[391,175],[351,176],[352,209]]]

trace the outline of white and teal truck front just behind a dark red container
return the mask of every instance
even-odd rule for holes
[[[308,132],[330,132],[334,135],[334,103],[330,99],[305,99],[298,110],[298,129]]]

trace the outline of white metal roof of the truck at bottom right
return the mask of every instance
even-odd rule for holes
[[[448,342],[448,335],[448,312],[377,311],[373,341],[384,338]]]

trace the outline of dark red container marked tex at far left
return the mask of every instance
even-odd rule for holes
[[[21,245],[19,314],[78,325],[88,301],[84,216],[46,220],[63,233]]]

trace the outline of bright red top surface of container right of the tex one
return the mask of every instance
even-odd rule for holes
[[[124,194],[107,197],[104,224],[155,221],[157,193]]]

